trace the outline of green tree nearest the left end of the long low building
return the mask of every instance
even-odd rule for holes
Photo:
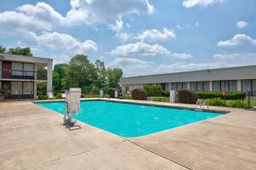
[[[119,68],[108,68],[108,87],[120,88],[119,81],[123,76],[123,71]]]

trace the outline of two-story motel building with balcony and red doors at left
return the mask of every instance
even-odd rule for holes
[[[0,89],[6,89],[4,99],[37,99],[37,83],[47,82],[52,91],[53,59],[23,55],[0,54]],[[38,70],[47,67],[47,77]]]

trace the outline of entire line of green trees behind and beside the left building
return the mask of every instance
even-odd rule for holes
[[[0,53],[33,56],[30,48],[9,48],[0,46]],[[47,70],[38,71],[38,76],[46,76]],[[82,88],[86,93],[98,93],[100,89],[120,88],[119,80],[123,71],[108,68],[99,59],[91,62],[88,56],[77,54],[67,64],[55,65],[53,70],[53,89],[59,92],[67,88]],[[38,83],[38,95],[46,94],[46,83]]]

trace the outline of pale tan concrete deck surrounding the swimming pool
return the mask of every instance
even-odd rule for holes
[[[32,101],[0,102],[0,169],[255,169],[256,111],[210,109],[230,113],[125,139],[82,122],[69,130]]]

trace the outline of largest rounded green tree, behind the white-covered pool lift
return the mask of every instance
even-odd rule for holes
[[[70,60],[69,65],[65,67],[65,74],[66,77],[62,80],[65,88],[91,87],[96,79],[95,66],[83,54],[78,54]]]

